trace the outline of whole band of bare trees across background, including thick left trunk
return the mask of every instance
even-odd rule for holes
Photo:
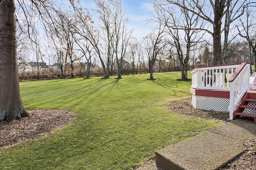
[[[14,0],[0,0],[0,120],[26,115],[18,64],[25,68],[29,57],[37,67],[57,63],[60,77],[76,76],[79,65],[87,78],[92,63],[102,68],[104,78],[122,78],[126,68],[126,74],[150,72],[153,79],[152,72],[172,67],[186,80],[188,70],[207,59],[213,64],[256,62],[256,2],[250,0],[152,1],[151,21],[157,26],[143,40],[132,37],[121,0],[94,0],[100,23],[94,23],[79,1],[58,3],[18,0],[14,5]]]

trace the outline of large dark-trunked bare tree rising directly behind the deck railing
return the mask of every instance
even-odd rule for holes
[[[187,11],[192,12],[193,14],[200,17],[202,20],[208,21],[212,25],[213,31],[210,28],[203,27],[202,30],[207,31],[212,35],[213,38],[213,53],[214,61],[213,64],[222,64],[222,46],[221,46],[221,34],[224,30],[227,31],[228,26],[237,20],[240,16],[244,14],[244,8],[248,4],[255,4],[256,2],[247,3],[247,0],[244,0],[240,3],[231,3],[235,0],[167,0],[170,4],[174,4],[183,8]],[[184,5],[185,2],[185,5]],[[233,5],[233,6],[231,6]],[[230,12],[230,9],[236,11],[232,20],[226,23],[224,26],[222,24],[222,19],[226,13]],[[230,13],[231,14],[231,13]]]

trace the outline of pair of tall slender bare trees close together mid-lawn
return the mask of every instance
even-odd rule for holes
[[[96,11],[102,23],[101,37],[106,51],[106,78],[110,73],[112,74],[114,63],[116,63],[118,78],[121,78],[122,61],[131,35],[126,28],[128,18],[125,16],[125,9],[120,0],[94,0],[94,2],[98,6]]]

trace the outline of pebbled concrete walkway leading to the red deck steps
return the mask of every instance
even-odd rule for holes
[[[239,118],[164,149],[156,151],[156,162],[138,170],[218,170],[246,150],[256,139],[256,124]]]

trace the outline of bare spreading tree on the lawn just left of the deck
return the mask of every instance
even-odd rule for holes
[[[182,3],[183,6],[186,6],[184,1]],[[154,18],[166,25],[168,30],[166,32],[173,39],[169,43],[176,48],[181,65],[182,80],[187,80],[190,51],[193,46],[203,41],[201,40],[204,35],[201,31],[203,23],[199,22],[198,15],[186,8],[180,7],[179,11],[176,11],[170,4],[154,2],[154,10],[157,14]],[[199,29],[198,25],[201,25]]]

